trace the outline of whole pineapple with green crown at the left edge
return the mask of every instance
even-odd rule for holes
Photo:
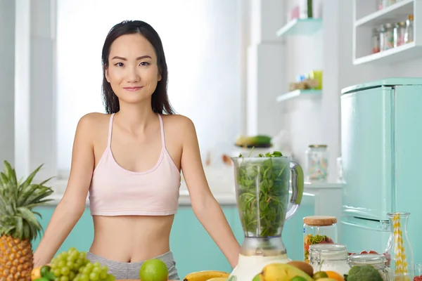
[[[41,165],[42,166],[42,165]],[[0,172],[0,281],[30,281],[32,270],[32,240],[42,228],[32,211],[46,204],[53,190],[46,187],[51,178],[32,183],[39,166],[25,181],[17,181],[15,169],[4,162]]]

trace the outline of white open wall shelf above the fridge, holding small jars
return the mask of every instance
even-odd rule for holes
[[[353,65],[387,65],[422,57],[422,1],[400,0],[381,10],[374,0],[354,0]],[[385,23],[403,22],[414,16],[414,41],[372,53],[373,29]]]

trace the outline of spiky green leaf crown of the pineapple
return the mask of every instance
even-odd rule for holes
[[[0,235],[31,241],[43,232],[37,220],[41,214],[32,211],[51,201],[48,197],[53,194],[53,189],[45,185],[51,178],[32,183],[42,166],[38,166],[25,180],[18,181],[15,169],[4,161],[4,171],[0,171]]]

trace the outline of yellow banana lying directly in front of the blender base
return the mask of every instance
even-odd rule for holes
[[[286,263],[271,263],[264,266],[261,279],[264,281],[289,281],[295,276],[304,277],[307,281],[313,281],[312,277],[304,271]]]

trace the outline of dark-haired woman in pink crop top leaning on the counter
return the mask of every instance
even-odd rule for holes
[[[240,245],[205,178],[191,119],[172,114],[167,64],[157,32],[140,20],[115,25],[102,52],[106,114],[79,120],[70,177],[37,250],[34,266],[53,258],[82,216],[89,192],[94,241],[87,259],[117,279],[136,279],[160,259],[178,280],[170,233],[183,171],[194,214],[232,267]],[[163,113],[167,114],[163,114]]]

